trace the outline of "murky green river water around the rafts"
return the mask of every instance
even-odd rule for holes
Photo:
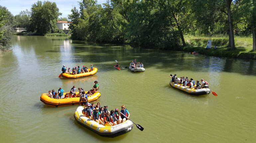
[[[255,143],[256,60],[92,44],[59,37],[15,36],[13,51],[0,54],[0,140],[2,143]],[[142,73],[116,70],[133,58]],[[61,67],[94,64],[97,74],[60,79]],[[169,85],[169,75],[207,80],[218,94],[191,96]],[[135,123],[131,132],[104,138],[76,123],[77,105],[49,107],[40,95],[75,85],[91,89],[97,80],[109,109],[125,105]]]

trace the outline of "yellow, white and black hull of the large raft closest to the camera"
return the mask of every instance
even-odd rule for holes
[[[85,126],[86,128],[99,134],[100,136],[116,137],[132,130],[133,123],[130,120],[126,120],[124,123],[114,126],[104,126],[93,120],[90,120],[87,117],[84,117],[82,110],[82,106],[77,107],[77,109],[75,110],[74,118],[77,121],[77,123]]]

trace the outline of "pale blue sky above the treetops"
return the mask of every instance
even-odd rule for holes
[[[38,0],[0,0],[0,5],[6,7],[14,16],[18,15],[21,11],[26,9],[30,10],[31,5]],[[41,0],[44,1],[44,0]],[[66,17],[71,12],[73,7],[78,7],[80,0],[48,0],[56,2],[59,12],[62,13],[60,17]],[[105,3],[107,0],[97,0],[98,4]]]

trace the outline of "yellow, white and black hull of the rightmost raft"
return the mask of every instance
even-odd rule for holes
[[[188,87],[184,87],[180,84],[175,84],[174,82],[172,82],[172,80],[170,81],[170,86],[175,88],[175,89],[179,89],[185,93],[188,93],[190,95],[195,95],[195,96],[199,96],[199,95],[205,95],[205,94],[210,94],[211,90],[208,88],[203,88],[203,89],[191,89]]]

